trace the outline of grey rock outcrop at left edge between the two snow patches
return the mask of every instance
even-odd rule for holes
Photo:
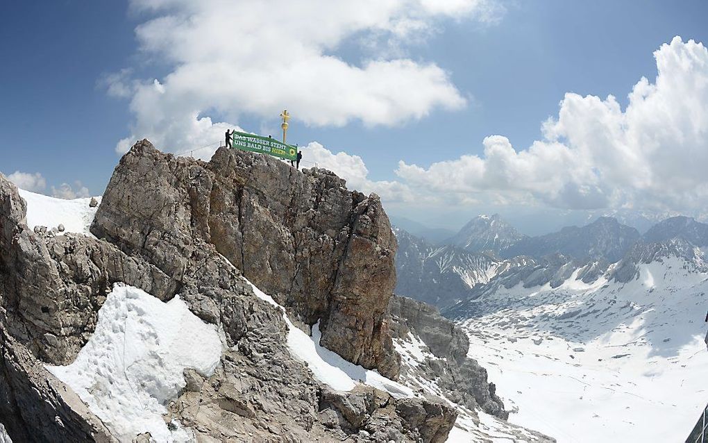
[[[74,360],[114,283],[137,286],[163,300],[173,296],[175,281],[113,245],[78,235],[40,238],[26,227],[18,229],[15,246],[0,252],[13,259],[1,273],[5,286],[13,288],[3,291],[8,296],[2,303],[11,333],[44,361]]]

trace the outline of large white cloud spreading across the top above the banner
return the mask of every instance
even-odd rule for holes
[[[187,1],[132,0],[149,19],[136,29],[142,54],[166,62],[160,79],[130,70],[106,76],[113,96],[130,97],[132,135],[185,150],[222,138],[239,117],[273,118],[283,106],[307,125],[396,125],[466,99],[433,62],[387,57],[435,30],[442,19],[493,22],[494,0]],[[377,40],[381,45],[372,43]],[[353,64],[337,50],[367,42]]]

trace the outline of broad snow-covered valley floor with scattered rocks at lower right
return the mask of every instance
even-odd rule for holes
[[[682,259],[628,284],[501,288],[460,324],[509,421],[559,442],[682,442],[708,401],[708,275]]]

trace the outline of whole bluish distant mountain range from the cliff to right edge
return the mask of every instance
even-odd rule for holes
[[[575,273],[590,283],[608,271],[612,279],[629,281],[641,263],[666,254],[697,267],[708,246],[708,225],[683,216],[653,225],[644,235],[615,218],[600,217],[588,225],[570,226],[528,237],[499,215],[479,215],[442,244],[394,228],[396,293],[445,308],[474,299],[503,285],[556,287]],[[610,266],[612,265],[612,266]]]

